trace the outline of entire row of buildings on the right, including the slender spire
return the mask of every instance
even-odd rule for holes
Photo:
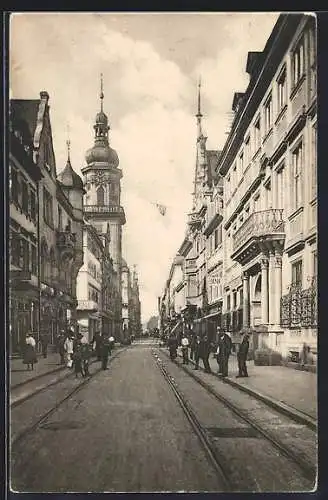
[[[315,18],[282,14],[250,52],[245,92],[222,151],[206,150],[198,100],[193,210],[184,257],[185,324],[251,329],[251,352],[317,350],[317,90]],[[166,286],[161,322],[170,316]]]

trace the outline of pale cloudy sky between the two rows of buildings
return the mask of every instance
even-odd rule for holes
[[[15,14],[10,94],[50,95],[57,172],[93,145],[100,73],[110,142],[123,170],[123,253],[137,266],[142,319],[157,312],[185,233],[195,167],[197,81],[208,148],[222,148],[235,91],[248,83],[248,51],[264,48],[278,13]],[[165,217],[154,203],[167,206]]]

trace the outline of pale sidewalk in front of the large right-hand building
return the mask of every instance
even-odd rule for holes
[[[212,354],[211,369],[217,373],[218,364]],[[199,366],[203,366],[200,361]],[[298,412],[317,418],[317,376],[315,373],[291,370],[285,366],[256,366],[247,362],[248,378],[236,378],[238,362],[236,355],[229,358],[229,376],[226,381],[238,385],[246,392],[264,396],[273,402],[281,402]],[[261,398],[260,398],[261,399]]]

